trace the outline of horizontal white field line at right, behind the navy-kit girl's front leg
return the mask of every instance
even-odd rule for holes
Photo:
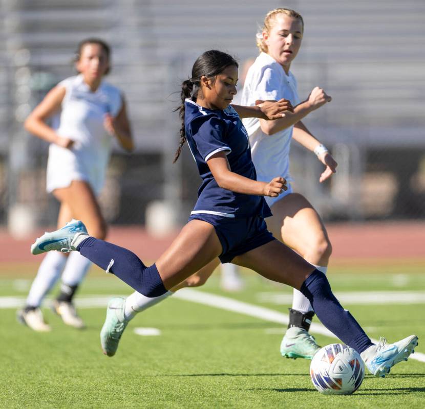
[[[292,293],[259,292],[257,300],[278,305],[292,304]],[[335,292],[343,305],[425,304],[425,291],[350,291]]]

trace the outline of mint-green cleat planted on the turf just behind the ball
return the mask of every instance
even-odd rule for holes
[[[290,327],[281,343],[281,354],[286,358],[313,359],[314,354],[320,350],[313,335],[304,328]]]

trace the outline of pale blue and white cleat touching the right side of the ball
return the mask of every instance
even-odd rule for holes
[[[366,350],[361,355],[370,373],[384,378],[396,363],[407,361],[417,345],[416,335],[410,335],[394,344],[387,344],[387,340],[382,336],[377,346],[368,348],[371,351]]]

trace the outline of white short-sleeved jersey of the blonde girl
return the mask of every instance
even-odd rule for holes
[[[289,72],[286,75],[282,65],[266,53],[261,53],[248,70],[242,91],[242,105],[254,106],[256,100],[287,99],[293,106],[301,101],[296,91],[295,77]],[[293,126],[283,129],[273,135],[267,135],[261,130],[258,118],[246,118],[243,124],[248,131],[251,143],[252,161],[257,170],[257,180],[269,182],[273,177],[289,176],[289,149]],[[288,190],[284,194],[288,194]],[[283,194],[283,195],[284,195]],[[269,206],[281,199],[266,197]]]

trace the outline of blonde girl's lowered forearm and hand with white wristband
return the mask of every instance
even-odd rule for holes
[[[294,124],[292,138],[308,150],[314,152],[318,160],[326,166],[326,169],[322,172],[319,178],[321,183],[326,179],[329,179],[329,177],[331,177],[332,174],[336,172],[336,167],[338,164],[332,155],[328,152],[326,147],[321,144],[320,141],[313,137],[311,132],[301,121],[298,121],[296,124]]]

